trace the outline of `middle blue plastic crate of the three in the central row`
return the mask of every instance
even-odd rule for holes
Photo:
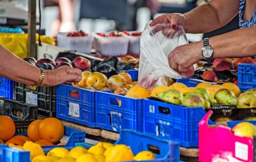
[[[120,101],[121,105],[119,106]],[[106,91],[96,92],[97,127],[107,130],[143,130],[143,99],[115,95]]]

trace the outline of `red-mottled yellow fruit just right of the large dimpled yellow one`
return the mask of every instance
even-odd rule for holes
[[[113,75],[106,82],[106,86],[108,86],[112,91],[115,91],[118,87],[124,87],[126,81],[123,76]]]

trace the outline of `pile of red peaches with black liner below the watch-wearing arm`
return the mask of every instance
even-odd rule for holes
[[[214,63],[212,65],[214,70],[205,71],[202,75],[202,78],[204,80],[216,83],[233,82],[234,84],[238,85],[237,77],[228,73],[227,71],[238,70],[238,65],[240,63],[255,64],[256,61],[250,57],[234,58],[233,60],[231,60],[230,58],[217,58],[214,60]],[[220,76],[218,77],[217,74],[219,74]],[[218,78],[221,78],[221,80],[218,80]]]

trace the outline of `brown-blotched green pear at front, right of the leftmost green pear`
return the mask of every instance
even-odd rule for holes
[[[182,98],[182,105],[186,107],[204,107],[204,99],[198,95],[186,95]]]

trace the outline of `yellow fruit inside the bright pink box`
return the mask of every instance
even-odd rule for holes
[[[249,122],[241,122],[232,128],[234,135],[241,137],[253,137],[256,135],[256,127]]]

